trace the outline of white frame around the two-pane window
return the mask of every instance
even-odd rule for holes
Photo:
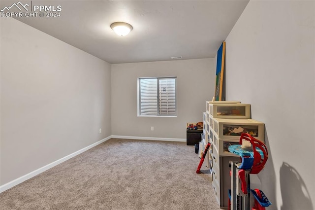
[[[157,79],[157,115],[141,115],[141,97],[140,97],[140,80]],[[159,80],[175,79],[175,114],[159,114]],[[176,76],[156,76],[156,77],[138,77],[137,78],[137,116],[138,117],[177,117],[177,77]]]

